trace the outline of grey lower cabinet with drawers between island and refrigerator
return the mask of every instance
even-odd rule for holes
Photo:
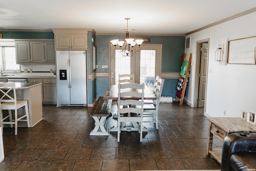
[[[56,104],[56,79],[55,78],[28,78],[29,83],[42,83],[42,103]]]

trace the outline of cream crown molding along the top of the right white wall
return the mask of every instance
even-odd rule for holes
[[[218,25],[218,24],[221,24],[221,23],[224,23],[224,22],[233,20],[233,19],[235,19],[235,18],[238,18],[238,17],[244,16],[244,15],[250,14],[250,13],[252,13],[252,12],[256,12],[256,8],[252,8],[252,9],[250,9],[250,10],[247,10],[247,11],[244,11],[244,12],[241,12],[241,13],[238,13],[238,14],[236,14],[236,15],[234,15],[234,16],[230,16],[230,17],[225,18],[225,19],[223,19],[223,20],[220,20],[220,21],[218,21],[218,22],[214,22],[214,23],[209,24],[209,25],[207,25],[207,26],[198,28],[198,29],[196,29],[196,30],[193,30],[192,32],[186,33],[185,35],[187,36],[187,35],[189,35],[189,34],[193,34],[193,33],[202,31],[202,30],[204,30],[204,29],[206,29],[206,28],[210,28],[210,27],[212,27],[212,26],[216,26],[216,25]]]

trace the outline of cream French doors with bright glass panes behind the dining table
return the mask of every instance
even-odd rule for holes
[[[110,45],[110,84],[118,84],[118,74],[135,74],[135,83],[150,86],[154,84],[156,75],[161,74],[162,45],[142,44],[140,50],[131,57],[123,57],[122,53]]]

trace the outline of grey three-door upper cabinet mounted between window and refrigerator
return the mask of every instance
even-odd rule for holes
[[[16,62],[55,63],[54,41],[15,41]]]

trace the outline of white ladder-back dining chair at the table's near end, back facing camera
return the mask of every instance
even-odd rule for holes
[[[133,91],[136,89],[136,91]],[[126,97],[128,99],[122,99]],[[140,142],[142,142],[142,119],[144,103],[144,84],[128,83],[118,84],[118,133],[117,141],[120,142],[121,124],[125,122],[137,122],[139,125]],[[137,105],[142,106],[140,109]],[[126,107],[123,107],[126,106]]]

